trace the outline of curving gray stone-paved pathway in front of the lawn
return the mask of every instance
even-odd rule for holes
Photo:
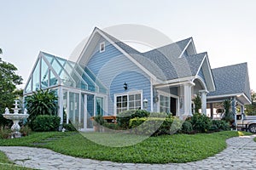
[[[254,137],[256,135],[228,139],[227,149],[219,154],[189,163],[134,164],[95,161],[64,156],[52,150],[20,146],[0,146],[0,150],[16,164],[37,169],[255,169]]]

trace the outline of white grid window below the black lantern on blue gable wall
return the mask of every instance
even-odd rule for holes
[[[123,94],[116,96],[116,113],[138,110],[142,107],[142,94]]]

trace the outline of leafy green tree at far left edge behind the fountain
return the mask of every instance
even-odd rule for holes
[[[15,65],[0,61],[0,113],[3,113],[6,107],[14,106],[16,85],[22,83],[22,78],[15,71]]]

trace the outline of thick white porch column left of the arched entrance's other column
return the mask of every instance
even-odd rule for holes
[[[184,88],[184,116],[192,116],[191,111],[191,88],[194,86],[195,83],[193,82],[187,82],[183,85]]]

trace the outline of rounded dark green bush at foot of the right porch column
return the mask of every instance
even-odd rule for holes
[[[212,120],[206,115],[195,113],[190,122],[192,124],[193,130],[198,133],[207,133],[207,131],[212,126]]]

